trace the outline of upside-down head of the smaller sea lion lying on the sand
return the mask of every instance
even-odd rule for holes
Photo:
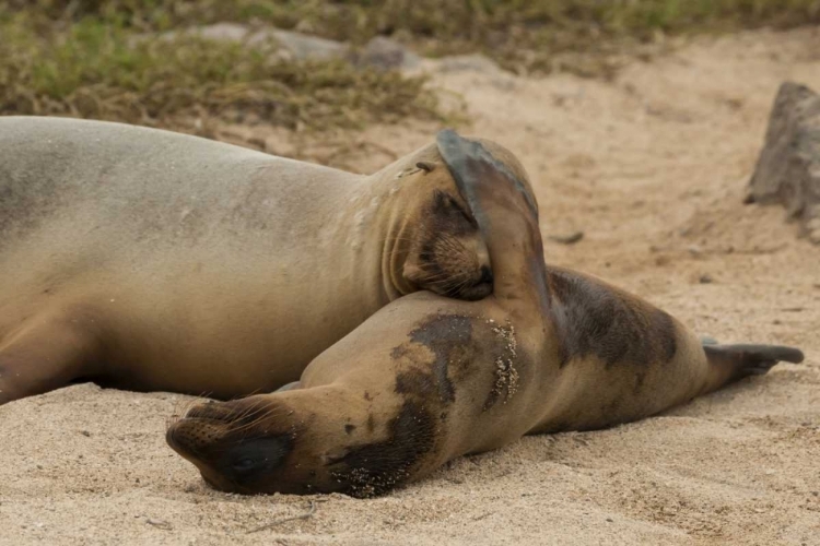
[[[384,434],[382,420],[391,416],[372,411],[362,392],[297,388],[199,404],[169,424],[166,441],[222,491],[366,497],[400,482],[418,449],[412,438],[424,423],[405,414],[387,427],[389,440],[373,443]],[[367,476],[367,487],[358,474],[366,472],[360,467],[363,456],[378,468],[378,477]]]

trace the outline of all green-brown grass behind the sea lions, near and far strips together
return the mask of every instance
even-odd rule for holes
[[[423,79],[336,61],[289,62],[195,36],[234,21],[363,44],[389,35],[427,55],[484,51],[518,71],[660,33],[820,23],[820,0],[0,0],[0,114],[169,124],[248,117],[295,127],[441,118]]]

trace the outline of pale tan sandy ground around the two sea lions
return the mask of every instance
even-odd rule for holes
[[[80,385],[0,407],[0,544],[820,545],[820,248],[741,204],[786,79],[820,90],[820,29],[702,38],[613,82],[438,67],[536,183],[548,261],[637,293],[724,342],[805,364],[610,430],[525,438],[393,495],[210,490],[165,444],[185,396]],[[469,63],[467,63],[469,64]],[[359,138],[366,171],[430,126]],[[271,136],[269,147],[284,146]],[[370,143],[370,144],[368,144]]]

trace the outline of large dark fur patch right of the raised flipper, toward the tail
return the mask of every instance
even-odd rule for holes
[[[569,272],[549,271],[548,283],[561,366],[589,355],[607,367],[648,366],[675,357],[675,322],[666,312]],[[639,379],[636,389],[642,383]]]

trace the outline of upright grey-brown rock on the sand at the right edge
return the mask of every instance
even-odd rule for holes
[[[747,202],[784,205],[812,241],[820,239],[813,222],[820,218],[820,95],[805,85],[781,85]]]

